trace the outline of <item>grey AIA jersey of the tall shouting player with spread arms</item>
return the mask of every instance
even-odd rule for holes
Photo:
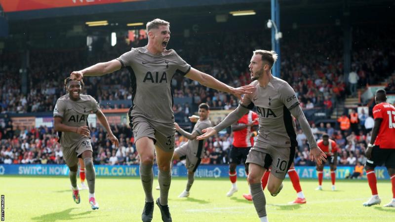
[[[147,46],[132,48],[117,60],[130,72],[130,115],[140,115],[160,123],[174,123],[171,80],[176,73],[187,74],[191,66],[173,49],[153,55]]]

